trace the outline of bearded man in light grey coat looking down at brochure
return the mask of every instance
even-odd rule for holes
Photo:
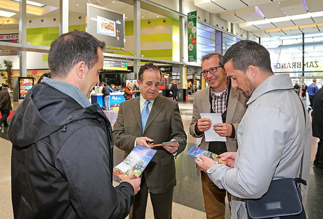
[[[227,166],[205,156],[195,162],[232,194],[231,219],[245,219],[244,199],[261,198],[273,179],[297,177],[303,153],[302,177],[309,180],[311,120],[289,75],[273,75],[264,46],[240,41],[226,51],[223,64],[232,87],[250,97],[237,131],[238,151],[221,155]],[[302,188],[304,206],[307,188]]]

